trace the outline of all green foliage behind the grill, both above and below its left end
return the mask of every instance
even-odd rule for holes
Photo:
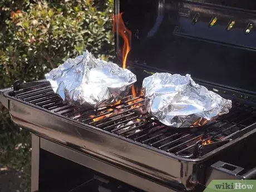
[[[114,0],[0,0],[0,87],[42,79],[84,50],[113,60],[113,6]],[[0,105],[0,167],[18,171],[23,191],[29,190],[30,161],[29,132]]]

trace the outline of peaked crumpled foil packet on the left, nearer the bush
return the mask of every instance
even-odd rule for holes
[[[120,100],[137,81],[131,71],[96,59],[88,51],[74,59],[69,58],[45,77],[63,101],[95,109]]]

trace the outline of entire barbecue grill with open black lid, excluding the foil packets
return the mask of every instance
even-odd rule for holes
[[[256,179],[255,1],[116,0],[115,13],[132,34],[136,96],[95,111],[63,102],[45,80],[1,90],[12,120],[33,133],[32,191],[203,191],[213,179]],[[121,65],[118,34],[115,45]],[[152,72],[190,73],[232,110],[203,127],[167,127],[139,94]]]

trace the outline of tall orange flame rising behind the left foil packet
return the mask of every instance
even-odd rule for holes
[[[113,18],[113,32],[117,29],[117,32],[124,40],[124,47],[122,50],[122,68],[126,68],[127,56],[131,50],[131,31],[125,27],[122,14],[117,14]]]

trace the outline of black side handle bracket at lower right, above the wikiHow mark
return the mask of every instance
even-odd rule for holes
[[[206,174],[206,186],[215,179],[256,179],[256,168],[244,172],[245,169],[240,166],[218,161],[210,166],[209,172]]]

